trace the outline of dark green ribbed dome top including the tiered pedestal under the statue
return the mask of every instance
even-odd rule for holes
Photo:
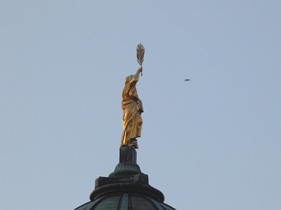
[[[136,164],[133,146],[121,146],[119,164],[108,177],[98,177],[90,202],[74,210],[170,210],[164,195],[148,183]]]

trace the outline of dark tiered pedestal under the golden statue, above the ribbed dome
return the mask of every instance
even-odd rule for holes
[[[109,177],[98,177],[95,190],[90,195],[93,202],[99,197],[124,193],[141,194],[164,202],[164,195],[148,183],[148,175],[136,164],[136,150],[133,146],[120,147],[119,163]]]

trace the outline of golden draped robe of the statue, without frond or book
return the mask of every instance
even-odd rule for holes
[[[141,137],[141,127],[143,120],[138,112],[138,104],[133,97],[138,98],[136,83],[138,82],[139,73],[127,76],[125,78],[125,87],[122,92],[122,109],[123,109],[123,134],[121,146],[131,145],[133,138]]]

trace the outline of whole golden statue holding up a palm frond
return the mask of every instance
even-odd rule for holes
[[[143,113],[143,104],[138,98],[138,92],[136,91],[136,83],[140,78],[140,73],[143,75],[143,45],[138,44],[137,59],[141,64],[141,68],[136,71],[135,75],[130,75],[125,78],[124,90],[122,92],[122,109],[123,109],[123,133],[121,139],[121,146],[133,146],[138,148],[138,141],[136,138],[141,137],[141,127],[143,125],[143,119],[141,113]]]

